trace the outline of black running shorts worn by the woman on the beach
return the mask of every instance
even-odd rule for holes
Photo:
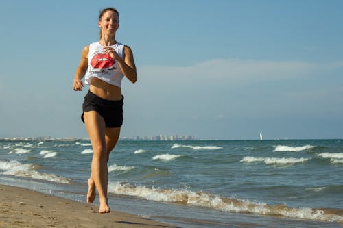
[[[84,97],[82,110],[84,112],[96,111],[104,118],[106,127],[121,127],[123,125],[123,100],[109,101],[88,91]],[[81,119],[84,122],[84,113],[82,112]]]

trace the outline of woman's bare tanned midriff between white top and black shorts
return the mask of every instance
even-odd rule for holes
[[[120,101],[122,98],[120,87],[108,84],[97,77],[93,77],[91,79],[89,90],[93,92],[93,94],[97,95],[97,97],[101,97],[109,101]]]

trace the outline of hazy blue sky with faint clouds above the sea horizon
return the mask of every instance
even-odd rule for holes
[[[343,1],[0,1],[0,138],[87,137],[72,90],[103,8],[138,81],[121,137],[343,138]]]

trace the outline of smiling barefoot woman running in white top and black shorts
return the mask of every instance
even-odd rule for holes
[[[89,91],[84,97],[82,121],[86,125],[93,147],[91,177],[88,179],[87,203],[99,194],[99,213],[110,212],[107,199],[110,151],[117,144],[123,122],[123,95],[121,80],[137,81],[130,47],[115,40],[119,27],[119,12],[106,8],[99,14],[100,40],[82,50],[80,65],[75,72],[73,90],[81,91],[85,83]]]

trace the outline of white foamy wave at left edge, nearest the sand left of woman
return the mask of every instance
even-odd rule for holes
[[[39,179],[43,181],[50,181],[55,183],[69,183],[70,179],[60,177],[47,173],[40,173],[36,171],[36,166],[33,164],[21,164],[16,160],[9,162],[0,161],[0,170],[4,170],[3,175],[14,175],[16,177],[29,177],[32,179]]]

